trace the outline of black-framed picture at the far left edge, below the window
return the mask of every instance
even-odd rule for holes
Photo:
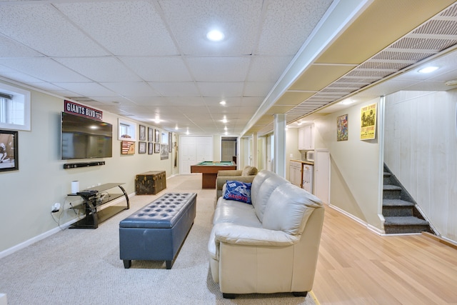
[[[0,130],[0,171],[19,170],[18,131]]]

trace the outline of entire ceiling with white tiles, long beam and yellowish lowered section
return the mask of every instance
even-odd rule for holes
[[[0,1],[0,77],[169,131],[266,134],[356,93],[451,89],[454,2]],[[446,73],[412,75],[428,59]]]

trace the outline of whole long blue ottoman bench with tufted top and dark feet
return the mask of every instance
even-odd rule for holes
[[[165,261],[171,269],[196,215],[195,193],[167,193],[119,222],[124,267],[132,260]]]

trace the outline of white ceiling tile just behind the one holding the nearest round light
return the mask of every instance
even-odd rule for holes
[[[186,58],[196,81],[245,81],[248,56]]]

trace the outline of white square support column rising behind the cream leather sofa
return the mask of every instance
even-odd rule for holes
[[[273,171],[286,178],[286,114],[275,114],[273,120],[274,163]]]

